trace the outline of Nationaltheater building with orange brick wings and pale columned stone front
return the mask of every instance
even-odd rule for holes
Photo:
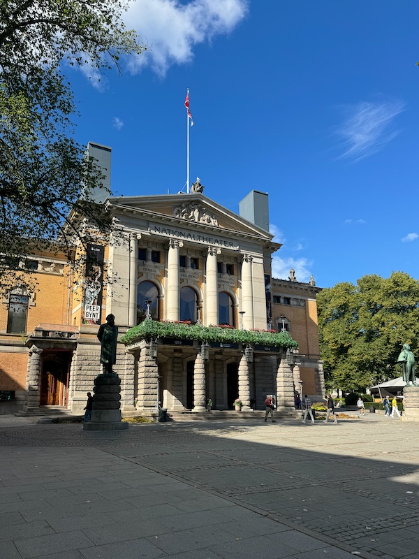
[[[240,215],[207,198],[199,181],[187,194],[111,197],[105,204],[119,233],[87,247],[84,276],[64,255],[34,256],[38,288],[17,284],[0,309],[0,393],[15,395],[0,412],[81,413],[101,373],[98,325],[110,313],[119,326],[122,414],[152,415],[158,402],[172,412],[203,412],[208,400],[231,409],[236,398],[243,409],[262,409],[267,394],[292,409],[302,390],[322,398],[319,289],[293,275],[272,278],[281,245],[268,231],[267,195],[249,196]],[[287,356],[286,347],[266,343],[129,335],[149,319],[288,331],[298,350]]]

